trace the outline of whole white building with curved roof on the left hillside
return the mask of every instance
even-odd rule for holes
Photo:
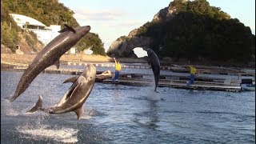
[[[20,26],[23,30],[33,31],[38,36],[38,40],[40,40],[45,46],[52,39],[58,36],[58,30],[61,30],[61,26],[58,25],[50,25],[46,26],[42,22],[34,18],[27,17],[22,14],[10,14],[14,21]]]

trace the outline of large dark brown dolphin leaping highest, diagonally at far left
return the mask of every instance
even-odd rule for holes
[[[49,42],[34,58],[30,66],[25,70],[22,78],[18,82],[15,94],[9,98],[13,102],[20,94],[22,94],[29,86],[30,83],[47,67],[55,64],[59,67],[59,58],[70,50],[83,36],[90,31],[90,26],[78,26],[73,29],[65,25],[66,28],[58,31],[59,34],[51,42]]]

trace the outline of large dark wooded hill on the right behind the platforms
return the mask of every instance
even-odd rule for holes
[[[153,49],[173,62],[255,62],[255,35],[249,26],[206,0],[174,0],[128,36],[112,43],[109,56],[136,57],[133,49]]]

